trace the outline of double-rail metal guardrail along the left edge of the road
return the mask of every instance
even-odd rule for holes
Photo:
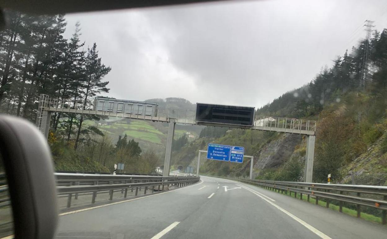
[[[59,195],[67,194],[67,207],[71,206],[71,200],[77,199],[80,193],[92,193],[91,203],[94,204],[97,193],[109,192],[110,200],[113,200],[113,193],[120,190],[127,197],[128,190],[138,191],[144,189],[144,194],[149,187],[153,191],[163,191],[164,187],[176,185],[177,187],[188,186],[200,180],[200,177],[163,177],[147,175],[104,175],[104,174],[63,174],[55,173],[57,192]],[[156,189],[157,187],[157,189]]]

